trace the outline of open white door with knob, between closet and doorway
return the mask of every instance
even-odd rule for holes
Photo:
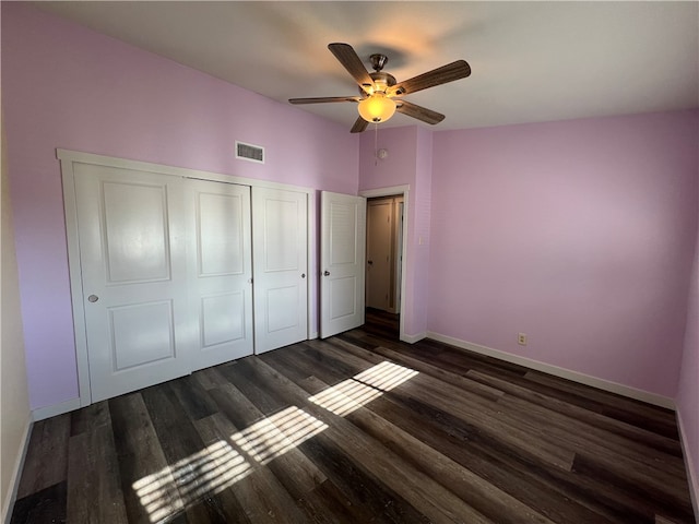
[[[320,336],[364,324],[366,205],[363,196],[320,196]]]

